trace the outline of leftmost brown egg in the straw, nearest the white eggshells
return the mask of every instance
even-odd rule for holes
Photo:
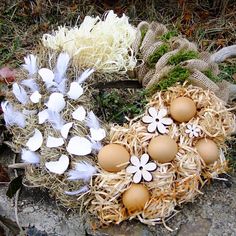
[[[106,171],[119,172],[129,162],[130,154],[119,144],[108,144],[98,153],[98,163]]]

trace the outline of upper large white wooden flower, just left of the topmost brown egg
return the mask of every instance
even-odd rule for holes
[[[157,111],[154,107],[148,109],[148,116],[144,116],[142,121],[145,124],[149,124],[147,127],[148,132],[152,133],[157,130],[161,134],[168,133],[166,126],[171,125],[173,120],[171,118],[165,117],[167,115],[167,110],[162,108]]]

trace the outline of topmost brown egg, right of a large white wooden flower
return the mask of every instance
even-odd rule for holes
[[[194,101],[187,97],[178,97],[170,104],[171,117],[179,122],[191,120],[197,112]]]

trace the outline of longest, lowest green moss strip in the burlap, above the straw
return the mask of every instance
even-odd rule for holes
[[[167,88],[173,86],[176,83],[181,83],[188,79],[190,71],[181,66],[176,66],[172,69],[159,83],[154,84],[147,90],[147,95],[152,96],[156,91],[167,90]]]

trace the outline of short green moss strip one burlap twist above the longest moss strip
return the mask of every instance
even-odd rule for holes
[[[171,65],[178,65],[182,61],[190,60],[190,59],[197,59],[198,53],[193,50],[184,51],[181,50],[175,55],[171,56],[168,60],[168,63]]]

